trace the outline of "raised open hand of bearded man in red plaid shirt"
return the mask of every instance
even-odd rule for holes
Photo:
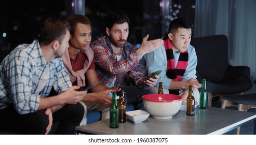
[[[141,57],[146,53],[156,50],[164,44],[164,40],[162,39],[154,39],[147,41],[148,38],[149,34],[146,35],[146,37],[143,39],[141,43],[141,47],[136,51],[138,55]]]

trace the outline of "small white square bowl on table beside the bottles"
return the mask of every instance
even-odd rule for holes
[[[127,111],[126,114],[128,118],[134,123],[141,123],[150,116],[149,113],[142,110]]]

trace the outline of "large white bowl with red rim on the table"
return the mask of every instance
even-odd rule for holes
[[[182,97],[173,94],[147,94],[143,95],[143,105],[153,118],[169,119],[179,112]]]

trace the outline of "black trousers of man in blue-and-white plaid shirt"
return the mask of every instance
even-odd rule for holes
[[[75,127],[79,126],[84,116],[84,107],[77,103],[66,105],[52,114],[53,123],[59,122],[55,134],[75,134]],[[19,114],[14,107],[0,110],[0,130],[18,134],[45,134],[49,124],[45,110],[33,113]]]

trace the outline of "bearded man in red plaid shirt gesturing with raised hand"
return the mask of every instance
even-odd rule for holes
[[[141,47],[136,49],[126,41],[129,34],[129,19],[122,11],[114,11],[107,17],[106,34],[107,36],[93,41],[90,45],[95,52],[99,81],[109,88],[119,88],[128,73],[138,88],[136,86],[122,86],[121,88],[127,92],[128,103],[141,102],[141,96],[150,93],[147,89],[156,84],[158,77],[149,79],[143,76],[140,60],[144,54],[163,45],[163,40],[147,41],[149,35],[146,35]]]

